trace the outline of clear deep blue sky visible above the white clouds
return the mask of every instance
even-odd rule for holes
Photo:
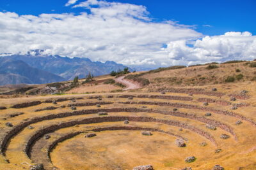
[[[81,1],[77,1],[79,3]],[[156,20],[173,20],[180,24],[195,25],[198,32],[207,35],[228,31],[249,31],[256,34],[255,0],[119,0],[109,2],[131,3],[147,7]],[[1,11],[19,15],[41,13],[80,13],[81,8],[65,6],[63,0],[1,0]]]

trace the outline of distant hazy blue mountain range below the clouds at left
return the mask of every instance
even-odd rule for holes
[[[72,80],[75,76],[84,78],[89,72],[99,76],[125,67],[113,61],[93,62],[88,58],[42,55],[42,52],[33,50],[26,55],[0,57],[0,85]]]

